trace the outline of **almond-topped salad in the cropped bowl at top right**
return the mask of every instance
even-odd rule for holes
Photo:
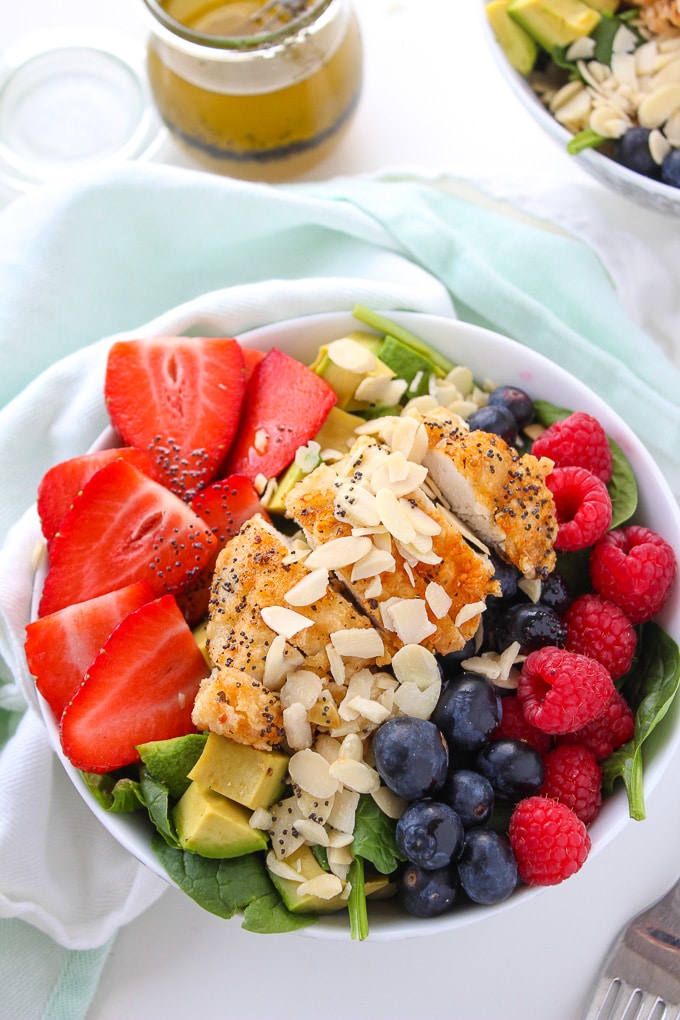
[[[596,148],[680,188],[678,0],[490,0],[486,12],[570,153]]]

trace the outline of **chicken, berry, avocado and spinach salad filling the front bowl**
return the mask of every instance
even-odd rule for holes
[[[358,306],[310,364],[115,343],[116,444],[38,492],[25,653],[64,756],[259,932],[503,903],[584,864],[680,682],[676,555],[592,415]]]

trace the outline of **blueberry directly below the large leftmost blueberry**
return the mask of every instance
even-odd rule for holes
[[[397,822],[397,846],[411,864],[434,871],[444,868],[463,849],[463,822],[448,804],[414,801]]]

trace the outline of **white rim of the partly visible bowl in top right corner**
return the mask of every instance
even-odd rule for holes
[[[488,41],[488,47],[493,55],[496,65],[515,96],[522,106],[534,118],[536,123],[542,128],[546,135],[556,142],[565,154],[565,159],[575,159],[578,165],[589,173],[600,184],[619,195],[644,205],[649,209],[656,209],[663,214],[680,216],[680,188],[672,188],[661,181],[652,181],[642,173],[622,166],[615,159],[595,149],[584,149],[576,155],[571,155],[567,151],[567,143],[572,138],[570,132],[555,119],[553,114],[541,103],[535,92],[529,85],[527,79],[523,78],[519,71],[515,70],[502,47],[496,42],[495,36],[486,18],[484,7],[486,0],[481,0],[481,17],[483,30]]]

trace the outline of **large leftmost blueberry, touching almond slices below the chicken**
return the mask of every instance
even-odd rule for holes
[[[385,786],[407,801],[418,801],[443,785],[449,748],[433,722],[400,715],[376,729],[373,760]]]

